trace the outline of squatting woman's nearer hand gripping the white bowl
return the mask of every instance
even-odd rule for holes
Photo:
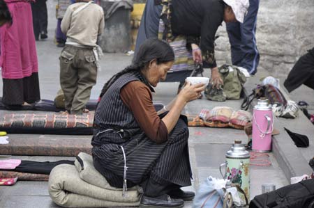
[[[178,98],[180,97],[184,102],[187,103],[202,96],[201,92],[204,90],[205,86],[203,83],[191,85],[190,82],[186,82],[184,88],[182,88],[180,91]]]

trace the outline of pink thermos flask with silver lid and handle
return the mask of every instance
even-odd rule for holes
[[[274,117],[268,99],[258,99],[257,105],[254,106],[252,128],[252,150],[270,152]]]

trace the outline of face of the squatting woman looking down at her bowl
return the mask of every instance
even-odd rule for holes
[[[154,59],[153,61],[149,62],[147,70],[144,70],[143,74],[147,81],[149,81],[149,84],[153,87],[156,87],[159,81],[165,80],[167,72],[170,70],[172,65],[173,61],[157,64],[156,59]]]

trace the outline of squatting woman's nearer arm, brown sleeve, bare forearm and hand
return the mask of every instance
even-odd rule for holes
[[[150,90],[140,81],[132,81],[121,89],[121,99],[128,109],[132,111],[136,122],[142,131],[156,143],[167,141],[170,131],[177,124],[181,111],[187,102],[197,99],[200,92],[204,90],[202,84],[191,86],[186,84],[177,98],[171,103],[171,109],[163,119],[160,120],[152,102]]]

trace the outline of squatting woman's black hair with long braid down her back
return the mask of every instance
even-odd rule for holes
[[[147,65],[149,65],[149,62],[154,59],[156,59],[157,64],[174,61],[174,52],[172,47],[170,47],[167,42],[156,38],[145,40],[142,45],[140,45],[140,49],[138,50],[136,56],[134,56],[132,64],[109,79],[109,81],[105,83],[105,86],[103,86],[103,90],[101,90],[99,97],[103,97],[112,83],[121,77],[121,75],[132,71],[140,72],[140,70],[146,68]]]

